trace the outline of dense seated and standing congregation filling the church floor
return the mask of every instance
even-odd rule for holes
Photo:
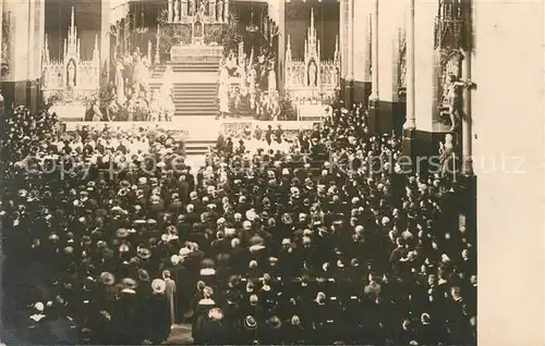
[[[49,279],[17,302],[39,344],[60,317],[83,344],[159,344],[178,323],[195,344],[476,343],[456,186],[401,172],[400,139],[371,135],[360,106],[289,148],[218,144],[196,171],[165,134],[39,136],[0,211],[8,257]]]

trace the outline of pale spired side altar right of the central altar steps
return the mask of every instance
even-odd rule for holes
[[[339,37],[335,44],[334,60],[320,59],[320,41],[316,38],[314,10],[311,10],[311,26],[307,28],[304,60],[291,55],[291,39],[288,36],[286,50],[286,94],[294,101],[327,102],[335,98],[340,82]]]

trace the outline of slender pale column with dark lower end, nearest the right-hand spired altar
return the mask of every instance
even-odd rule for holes
[[[374,0],[374,11],[372,15],[373,21],[373,29],[372,29],[372,66],[371,66],[371,75],[372,75],[372,90],[370,96],[368,103],[368,113],[370,113],[370,129],[372,133],[378,131],[378,0]]]

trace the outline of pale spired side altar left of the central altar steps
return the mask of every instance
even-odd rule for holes
[[[74,25],[74,8],[68,38],[64,39],[62,59],[49,58],[48,37],[44,49],[43,90],[44,97],[56,104],[82,104],[98,96],[100,86],[100,61],[98,35],[92,60],[81,57],[81,41]]]

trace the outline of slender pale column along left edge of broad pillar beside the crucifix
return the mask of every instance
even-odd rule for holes
[[[416,128],[415,112],[414,112],[414,95],[416,85],[414,83],[415,59],[414,59],[414,0],[410,1],[409,21],[407,22],[407,120],[403,124],[404,129]]]

